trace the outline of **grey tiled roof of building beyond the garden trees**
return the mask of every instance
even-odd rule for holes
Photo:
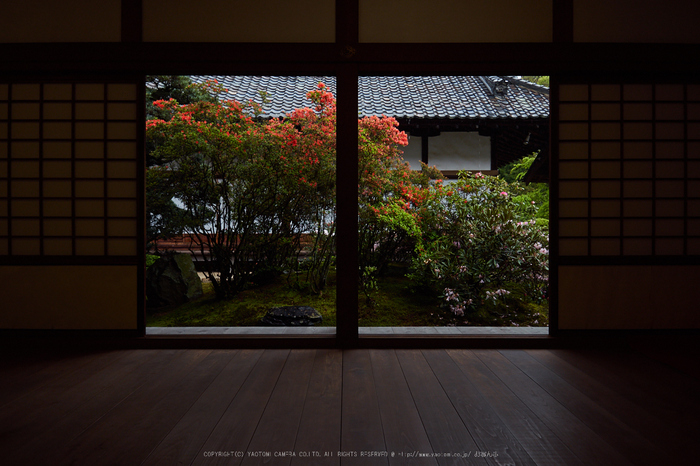
[[[191,76],[195,82],[216,79],[228,92],[222,99],[271,101],[265,114],[281,117],[309,107],[306,93],[323,82],[335,94],[334,76]],[[503,84],[507,90],[500,92]],[[549,117],[549,89],[513,76],[362,76],[362,116],[397,118],[522,119]]]

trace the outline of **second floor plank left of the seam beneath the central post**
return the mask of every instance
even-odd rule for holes
[[[315,350],[292,350],[287,358],[248,446],[249,452],[272,455],[265,464],[288,465],[296,454],[295,441],[315,356]],[[242,464],[259,464],[259,461],[259,457],[246,456]]]

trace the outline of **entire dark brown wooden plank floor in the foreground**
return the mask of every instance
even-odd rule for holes
[[[683,367],[653,345],[22,351],[0,357],[0,464],[691,464]]]

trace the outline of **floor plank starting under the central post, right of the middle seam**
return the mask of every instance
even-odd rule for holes
[[[343,354],[341,464],[388,464],[386,457],[363,457],[363,452],[385,452],[379,401],[367,351]]]

